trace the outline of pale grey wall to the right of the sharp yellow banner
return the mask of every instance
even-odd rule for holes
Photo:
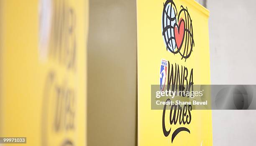
[[[255,5],[255,0],[207,0],[212,84],[256,84]],[[256,143],[255,110],[214,110],[212,124],[214,146]]]

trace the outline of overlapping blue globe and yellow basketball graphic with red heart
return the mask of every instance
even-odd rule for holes
[[[186,61],[195,45],[192,20],[187,8],[181,6],[178,13],[173,0],[166,0],[162,16],[162,30],[166,50],[174,54],[179,53]]]

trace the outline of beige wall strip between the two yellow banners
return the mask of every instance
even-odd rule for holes
[[[88,146],[136,144],[136,0],[90,0]]]

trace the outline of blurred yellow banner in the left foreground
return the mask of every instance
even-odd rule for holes
[[[1,0],[0,11],[0,137],[86,145],[87,0]]]

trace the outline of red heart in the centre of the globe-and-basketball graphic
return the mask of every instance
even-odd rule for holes
[[[174,37],[176,40],[177,47],[179,49],[179,47],[183,43],[184,38],[184,20],[182,18],[179,20],[179,27],[177,25],[175,25],[174,27]]]

